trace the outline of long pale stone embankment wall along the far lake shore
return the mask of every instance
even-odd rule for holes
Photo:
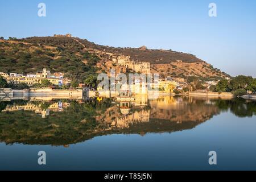
[[[189,92],[186,94],[175,94],[175,93],[166,93],[163,91],[159,91],[157,94],[149,91],[148,93],[134,93],[134,95],[130,96],[134,98],[138,95],[147,95],[148,98],[152,97],[164,97],[164,96],[188,96],[188,97],[212,97],[212,98],[234,98],[234,94],[228,92]],[[112,97],[119,97],[119,93],[112,91]],[[71,100],[82,100],[83,98],[92,98],[92,97],[106,97],[109,98],[109,91],[93,91],[93,90],[83,90],[83,89],[67,89],[67,90],[59,90],[52,88],[31,88],[31,89],[23,89],[23,90],[13,90],[10,88],[0,89],[0,100],[57,100],[57,99],[71,99]],[[240,96],[240,98],[246,100],[256,100],[256,94],[247,94],[244,96]],[[120,100],[123,100],[122,98]]]

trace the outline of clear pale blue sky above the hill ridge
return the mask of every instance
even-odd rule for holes
[[[46,4],[46,17],[38,4]],[[208,15],[209,3],[217,17]],[[0,36],[71,33],[114,47],[192,53],[232,76],[256,77],[255,0],[0,0]]]

